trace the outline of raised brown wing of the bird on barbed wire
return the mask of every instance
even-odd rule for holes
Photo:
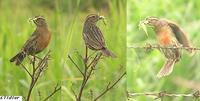
[[[186,33],[184,33],[183,30],[173,22],[168,22],[168,25],[172,29],[172,32],[174,33],[178,42],[182,44],[184,47],[190,47],[190,41],[186,36]]]

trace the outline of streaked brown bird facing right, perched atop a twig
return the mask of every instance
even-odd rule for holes
[[[94,51],[101,51],[106,57],[116,58],[116,55],[106,47],[104,36],[100,28],[96,25],[99,20],[103,19],[104,17],[99,14],[89,14],[86,17],[83,26],[83,40],[87,48]]]

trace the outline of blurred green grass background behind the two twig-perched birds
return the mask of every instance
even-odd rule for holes
[[[43,15],[52,32],[51,43],[44,56],[51,50],[52,59],[49,67],[39,79],[33,90],[31,100],[39,101],[46,97],[56,85],[62,84],[62,91],[50,101],[75,100],[71,91],[76,92],[80,86],[81,74],[67,58],[68,54],[79,51],[84,54],[82,27],[85,17],[91,13],[99,13],[107,18],[107,24],[99,22],[107,46],[118,58],[105,58],[98,64],[98,70],[92,75],[84,92],[84,101],[90,99],[89,91],[97,96],[114,78],[119,76],[120,65],[126,64],[126,0],[0,0],[0,95],[27,95],[30,83],[29,76],[20,68],[11,64],[9,59],[23,46],[35,29],[28,19],[35,15]],[[23,62],[30,66],[28,60]],[[124,68],[125,69],[125,68]],[[123,101],[125,97],[125,78],[102,97],[102,101]],[[114,97],[113,97],[114,96]]]

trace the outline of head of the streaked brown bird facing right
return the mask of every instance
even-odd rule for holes
[[[86,22],[90,23],[96,23],[99,20],[105,19],[103,16],[100,16],[99,14],[90,14],[86,17]]]

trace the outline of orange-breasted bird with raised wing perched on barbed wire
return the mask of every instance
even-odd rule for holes
[[[167,47],[186,47],[189,53],[193,53],[191,42],[187,34],[173,21],[164,18],[148,17],[144,24],[153,28],[158,39],[158,46],[164,54],[166,61],[157,74],[158,78],[168,76],[172,73],[174,65],[181,59],[181,52],[178,48]]]

